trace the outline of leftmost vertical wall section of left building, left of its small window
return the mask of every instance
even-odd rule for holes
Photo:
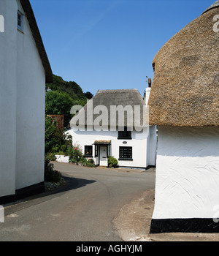
[[[4,33],[0,33],[0,196],[15,193],[16,13],[15,1],[0,1],[0,15],[4,16]]]

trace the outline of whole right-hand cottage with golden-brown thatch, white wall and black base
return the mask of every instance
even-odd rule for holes
[[[219,1],[153,60],[158,125],[151,233],[219,232]]]

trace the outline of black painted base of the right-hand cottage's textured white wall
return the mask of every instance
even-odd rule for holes
[[[217,222],[218,221],[218,222]],[[152,219],[150,233],[219,233],[219,219]]]

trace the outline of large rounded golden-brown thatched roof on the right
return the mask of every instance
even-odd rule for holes
[[[174,35],[153,60],[150,124],[219,126],[218,1]]]

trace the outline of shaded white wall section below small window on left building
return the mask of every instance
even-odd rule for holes
[[[20,189],[44,181],[45,69],[26,16],[23,33],[17,30],[16,108],[16,189]]]

